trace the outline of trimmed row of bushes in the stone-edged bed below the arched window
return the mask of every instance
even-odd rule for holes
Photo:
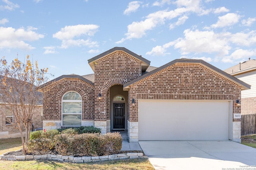
[[[92,126],[52,129],[31,132],[26,147],[31,154],[103,156],[118,153],[122,137],[119,132],[101,135],[100,129]]]

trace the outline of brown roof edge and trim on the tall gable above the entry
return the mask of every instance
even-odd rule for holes
[[[104,53],[101,53],[100,55],[97,55],[91,59],[88,60],[89,65],[91,66],[92,70],[94,71],[94,61],[109,55],[110,53],[113,53],[114,51],[124,51],[130,55],[132,55],[133,57],[135,57],[136,59],[141,61],[141,69],[142,72],[146,71],[146,69],[148,68],[148,66],[150,65],[150,61],[148,61],[147,59],[144,59],[143,57],[141,57],[140,55],[135,54],[134,52],[124,48],[124,47],[114,47],[108,51],[105,51]]]

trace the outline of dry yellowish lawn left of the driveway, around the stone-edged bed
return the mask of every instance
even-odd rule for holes
[[[20,138],[0,139],[0,154],[22,148]],[[105,162],[70,163],[52,160],[0,160],[0,170],[154,170],[148,159],[125,159]]]

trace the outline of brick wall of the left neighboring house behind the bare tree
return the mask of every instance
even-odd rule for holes
[[[34,112],[34,117],[32,121],[34,125],[34,130],[37,128],[43,127],[43,120],[42,120],[41,114],[42,114],[42,106],[38,106],[38,109],[36,109]],[[4,107],[0,105],[0,139],[10,138],[10,137],[20,137],[19,129],[15,128],[14,125],[6,125],[5,118],[6,118],[6,111]],[[15,123],[16,121],[15,117],[13,119]],[[22,128],[22,130],[25,131],[25,128]]]

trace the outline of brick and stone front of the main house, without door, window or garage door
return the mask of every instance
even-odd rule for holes
[[[236,99],[241,99],[241,89],[248,88],[242,81],[201,60],[180,59],[145,74],[150,62],[122,47],[106,51],[88,63],[94,70],[92,82],[81,76],[64,75],[49,83],[50,91],[44,94],[43,102],[44,128],[61,127],[62,97],[69,91],[82,97],[82,121],[85,122],[82,125],[99,127],[104,134],[113,127],[111,87],[123,86],[123,90],[128,91],[125,128],[129,140],[138,141],[138,100],[229,101],[233,104],[234,114],[241,112],[241,108],[236,107]],[[135,99],[134,107],[132,99]],[[237,134],[241,120],[231,119],[233,125],[230,123],[230,126],[234,129],[229,133],[239,142]]]

